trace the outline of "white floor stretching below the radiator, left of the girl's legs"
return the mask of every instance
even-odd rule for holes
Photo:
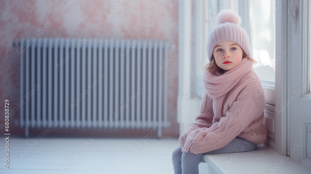
[[[91,137],[90,137],[91,138]],[[13,138],[0,141],[0,173],[173,174],[178,139]],[[4,157],[9,152],[9,170]]]

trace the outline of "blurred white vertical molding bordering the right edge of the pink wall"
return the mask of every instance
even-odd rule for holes
[[[180,1],[178,5],[178,46],[187,43],[192,35],[192,1]],[[179,135],[188,130],[189,124],[194,121],[194,108],[197,103],[191,93],[192,87],[192,44],[179,52],[178,56],[178,96],[177,96],[177,122]],[[198,111],[197,111],[198,112]]]

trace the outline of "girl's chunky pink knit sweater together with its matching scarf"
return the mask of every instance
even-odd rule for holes
[[[265,96],[253,62],[243,58],[224,74],[206,70],[203,83],[205,93],[199,114],[179,137],[183,152],[198,154],[220,149],[237,136],[254,144],[267,142],[263,125]]]

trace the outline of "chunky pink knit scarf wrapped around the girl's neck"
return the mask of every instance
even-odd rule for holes
[[[238,66],[221,74],[219,71],[205,70],[203,75],[204,88],[211,98],[220,97],[236,85],[242,77],[253,69],[253,62],[244,57]]]

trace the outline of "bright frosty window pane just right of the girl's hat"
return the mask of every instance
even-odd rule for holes
[[[275,82],[275,1],[251,0],[248,37],[254,71],[261,81]]]

